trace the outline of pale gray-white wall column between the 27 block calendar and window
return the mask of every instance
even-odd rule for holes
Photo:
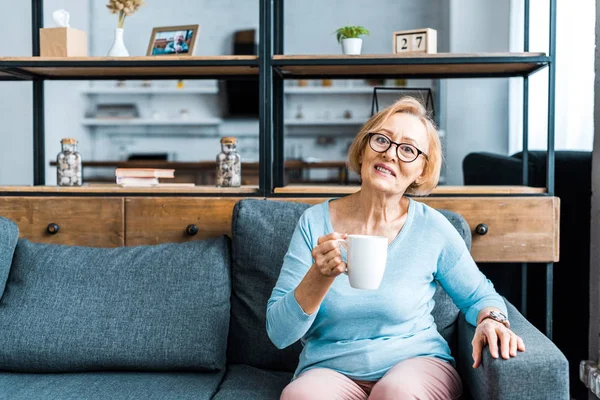
[[[450,51],[508,51],[509,5],[496,0],[450,0]],[[462,185],[462,160],[475,151],[508,151],[506,79],[446,83],[446,165],[449,185]]]

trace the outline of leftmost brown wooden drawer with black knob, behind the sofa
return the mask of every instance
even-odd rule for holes
[[[124,244],[123,199],[119,198],[1,197],[0,215],[15,221],[20,236],[32,242],[94,247]]]

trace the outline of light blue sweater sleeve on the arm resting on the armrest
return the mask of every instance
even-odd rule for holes
[[[504,300],[479,270],[458,232],[452,231],[438,260],[436,280],[473,326],[485,307],[496,307],[506,314]]]

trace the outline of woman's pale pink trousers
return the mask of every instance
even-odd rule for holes
[[[285,387],[281,400],[451,400],[461,394],[460,377],[451,364],[416,357],[396,364],[379,381],[354,381],[331,369],[309,369]]]

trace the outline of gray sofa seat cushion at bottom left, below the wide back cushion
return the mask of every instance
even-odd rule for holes
[[[209,400],[225,371],[0,373],[0,399]]]

